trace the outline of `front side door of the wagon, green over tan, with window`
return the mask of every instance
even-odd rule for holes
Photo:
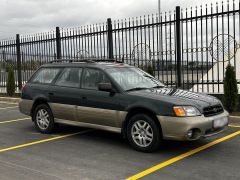
[[[84,69],[81,84],[82,106],[77,107],[78,121],[118,127],[121,116],[118,101],[120,94],[99,91],[98,83],[102,82],[110,82],[102,70]]]

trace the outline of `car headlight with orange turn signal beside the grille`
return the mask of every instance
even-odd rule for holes
[[[178,117],[199,116],[201,113],[193,106],[175,106],[173,110]]]

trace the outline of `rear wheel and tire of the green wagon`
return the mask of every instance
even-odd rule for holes
[[[50,107],[46,104],[38,105],[33,114],[33,121],[36,129],[43,133],[52,133],[55,128],[54,117]]]

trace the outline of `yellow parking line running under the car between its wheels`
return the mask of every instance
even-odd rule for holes
[[[17,146],[12,146],[12,147],[8,147],[8,148],[0,149],[0,153],[15,150],[15,149],[20,149],[20,148],[27,147],[27,146],[32,146],[32,145],[36,145],[36,144],[40,144],[40,143],[54,141],[54,140],[58,140],[58,139],[63,139],[63,138],[78,135],[78,134],[84,134],[84,133],[87,133],[87,132],[90,132],[90,131],[93,131],[93,130],[86,130],[86,131],[81,131],[81,132],[77,132],[77,133],[71,133],[71,134],[66,134],[66,135],[62,135],[62,136],[56,136],[56,137],[53,137],[53,138],[47,138],[47,139],[43,139],[43,140],[39,140],[39,141],[34,141],[34,142],[26,143],[26,144],[20,144],[20,145],[17,145]]]

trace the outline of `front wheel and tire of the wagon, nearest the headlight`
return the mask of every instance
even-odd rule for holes
[[[156,151],[162,142],[161,128],[147,114],[136,114],[127,124],[127,138],[137,151]]]

